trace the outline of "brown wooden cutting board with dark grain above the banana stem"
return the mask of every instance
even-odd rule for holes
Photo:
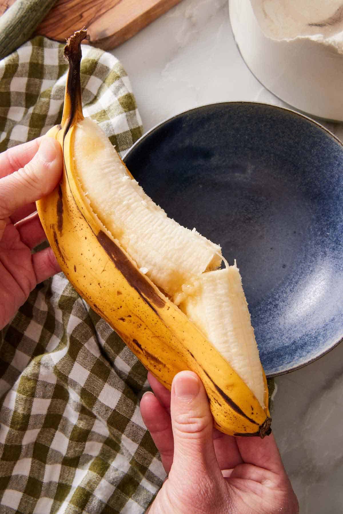
[[[57,0],[34,34],[65,42],[75,30],[86,27],[89,44],[111,50],[180,1]],[[0,0],[0,15],[14,2]]]

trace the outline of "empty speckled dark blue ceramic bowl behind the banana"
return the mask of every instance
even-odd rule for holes
[[[343,338],[343,145],[303,115],[207,105],[143,136],[124,158],[169,216],[237,260],[267,376]]]

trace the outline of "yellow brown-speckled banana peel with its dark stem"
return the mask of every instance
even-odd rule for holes
[[[83,122],[80,61],[85,36],[86,31],[81,30],[67,42],[69,75],[62,122],[48,133],[60,142],[64,156],[60,184],[37,202],[51,248],[79,294],[165,387],[171,388],[177,372],[194,371],[204,383],[216,428],[230,435],[264,437],[270,433],[264,374],[264,395],[259,401],[201,329],[140,270],[141,263],[119,242],[120,223],[109,229],[107,218],[101,217],[101,198],[100,206],[92,203],[89,188],[86,190],[80,181],[76,146],[82,143],[76,131]],[[120,159],[117,162],[118,167],[124,166]],[[122,172],[132,180],[125,168]],[[93,182],[97,180],[94,177]],[[200,236],[200,240],[205,238]],[[211,248],[212,244],[205,240],[206,245]]]

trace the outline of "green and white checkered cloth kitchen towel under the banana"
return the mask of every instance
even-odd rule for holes
[[[84,114],[123,153],[141,135],[127,74],[82,47]],[[0,62],[0,151],[60,122],[63,45],[37,37]],[[62,273],[1,332],[0,514],[145,512],[165,478],[139,412],[146,371]]]

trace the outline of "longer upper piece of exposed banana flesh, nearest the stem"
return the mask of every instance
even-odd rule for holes
[[[161,290],[172,296],[185,282],[220,266],[220,247],[154,204],[94,121],[80,121],[74,137],[75,168],[91,208]]]

